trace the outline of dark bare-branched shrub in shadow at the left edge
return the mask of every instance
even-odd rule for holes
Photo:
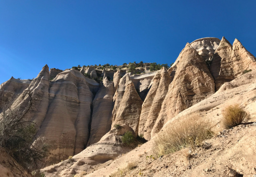
[[[3,88],[3,87],[2,87]],[[28,121],[25,115],[32,109],[32,96],[30,89],[27,92],[30,98],[27,107],[12,109],[3,104],[2,119],[0,119],[0,147],[3,147],[19,164],[26,169],[38,170],[38,163],[46,157],[47,145],[36,147],[32,142],[39,141],[35,134],[38,127]],[[4,94],[2,93],[3,103]]]

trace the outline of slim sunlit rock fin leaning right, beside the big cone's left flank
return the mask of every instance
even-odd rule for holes
[[[142,105],[138,130],[139,135],[143,135],[146,140],[151,139],[151,130],[158,118],[170,82],[171,76],[164,67],[152,80],[150,91]]]

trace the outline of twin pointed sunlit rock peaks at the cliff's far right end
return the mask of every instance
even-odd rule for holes
[[[225,82],[240,76],[245,70],[255,68],[256,58],[243,47],[239,40],[235,39],[232,46],[223,37],[209,69],[215,79],[217,91]]]

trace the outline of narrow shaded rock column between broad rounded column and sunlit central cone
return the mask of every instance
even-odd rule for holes
[[[114,93],[114,83],[104,77],[93,101],[91,132],[87,146],[98,142],[111,129]]]

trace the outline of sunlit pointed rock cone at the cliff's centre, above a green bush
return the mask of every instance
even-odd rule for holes
[[[117,91],[114,95],[114,102],[112,128],[116,124],[127,124],[137,135],[139,116],[143,102],[128,74],[120,80]]]

